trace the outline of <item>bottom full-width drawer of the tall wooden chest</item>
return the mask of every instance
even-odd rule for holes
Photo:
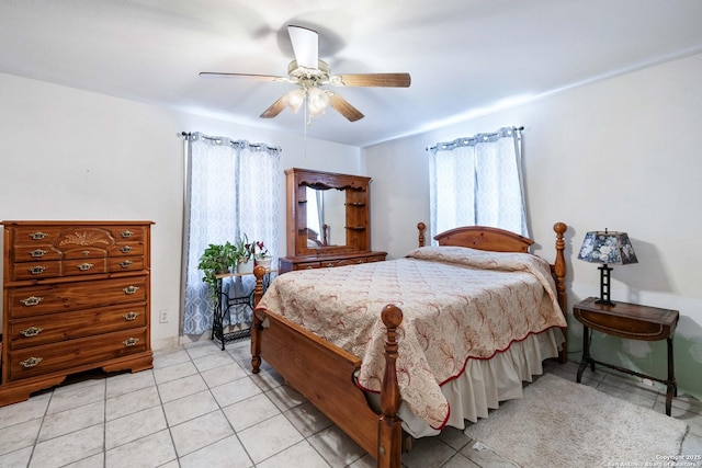
[[[147,351],[147,328],[10,351],[10,380],[64,372]]]

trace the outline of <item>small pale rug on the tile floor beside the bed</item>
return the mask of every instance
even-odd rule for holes
[[[665,413],[546,374],[465,434],[520,467],[613,467],[664,466],[687,430]]]

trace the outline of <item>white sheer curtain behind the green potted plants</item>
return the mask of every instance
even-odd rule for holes
[[[184,136],[181,332],[201,334],[212,328],[213,319],[212,298],[197,270],[210,243],[234,243],[246,233],[249,241],[263,241],[278,262],[281,150],[200,133]],[[236,287],[248,289],[252,283],[247,278]]]

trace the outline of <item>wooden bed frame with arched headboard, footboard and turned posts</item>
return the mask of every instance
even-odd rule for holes
[[[420,222],[419,246],[423,246],[424,225]],[[551,264],[557,299],[565,312],[565,242],[563,222],[554,225],[556,258]],[[435,237],[440,246],[461,246],[498,252],[529,252],[533,243],[501,229],[464,227],[449,230]],[[263,293],[264,269],[254,270],[257,285],[254,300],[258,305]],[[276,313],[257,309],[251,329],[251,365],[260,372],[261,359],[273,367],[295,390],[333,421],[346,434],[369,452],[378,467],[400,467],[403,429],[398,418],[400,391],[396,375],[398,358],[397,328],[403,312],[387,305],[382,311],[387,329],[385,339],[385,376],[381,390],[381,413],[373,411],[364,392],[354,381],[354,373],[361,368],[361,358],[319,338],[303,327]],[[265,327],[263,322],[265,321]],[[566,333],[564,333],[566,334]],[[559,358],[566,361],[567,342],[563,343]]]

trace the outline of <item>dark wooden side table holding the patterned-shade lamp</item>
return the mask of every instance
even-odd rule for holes
[[[678,396],[678,385],[676,384],[675,362],[672,358],[672,335],[680,318],[677,310],[659,309],[656,307],[639,306],[636,304],[613,301],[614,305],[597,304],[596,297],[589,297],[573,307],[573,313],[582,323],[582,362],[578,367],[577,381],[580,383],[582,372],[590,365],[595,372],[595,364],[616,369],[622,373],[645,377],[665,384],[666,391],[666,414],[670,415],[672,397]],[[637,373],[613,364],[595,361],[590,356],[591,330],[597,330],[613,336],[626,338],[630,340],[658,341],[666,340],[668,343],[668,378],[661,379],[646,374]]]

